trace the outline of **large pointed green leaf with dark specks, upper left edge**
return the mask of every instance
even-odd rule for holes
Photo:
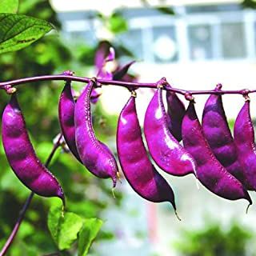
[[[0,54],[20,50],[54,27],[44,20],[18,14],[0,14]]]

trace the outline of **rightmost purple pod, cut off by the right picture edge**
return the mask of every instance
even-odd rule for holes
[[[238,150],[238,160],[246,174],[247,181],[252,190],[256,190],[256,145],[248,96],[246,96],[246,102],[234,122],[234,143]]]

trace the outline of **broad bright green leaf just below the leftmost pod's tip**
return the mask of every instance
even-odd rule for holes
[[[59,250],[70,249],[78,238],[78,232],[82,228],[83,219],[77,214],[62,212],[62,205],[50,207],[48,215],[48,228]]]

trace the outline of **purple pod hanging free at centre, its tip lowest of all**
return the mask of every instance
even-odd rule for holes
[[[176,213],[174,192],[146,153],[134,96],[130,97],[118,119],[117,148],[123,174],[142,198],[150,202],[170,202]]]

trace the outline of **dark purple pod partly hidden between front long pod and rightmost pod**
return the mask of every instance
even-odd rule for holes
[[[218,84],[215,90],[220,90]],[[207,99],[202,114],[202,130],[215,157],[226,170],[248,188],[246,176],[238,161],[238,153],[226,114],[222,105],[222,95],[212,94]]]

